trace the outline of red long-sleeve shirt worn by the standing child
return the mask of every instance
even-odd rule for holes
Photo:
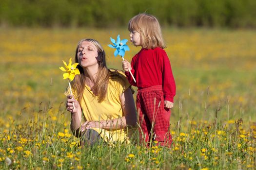
[[[138,89],[153,85],[162,85],[165,101],[174,101],[176,85],[171,64],[166,52],[155,49],[141,49],[132,59],[132,70],[136,82],[128,71],[125,72],[131,85]]]

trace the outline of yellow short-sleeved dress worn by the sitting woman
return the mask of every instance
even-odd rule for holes
[[[95,96],[90,87],[85,85],[80,106],[83,116],[89,121],[100,121],[118,119],[124,116],[120,94],[123,93],[131,85],[122,72],[118,72],[119,76],[115,76],[109,79],[107,88],[107,94],[102,102],[98,102],[98,96]],[[72,89],[74,92],[75,90]],[[69,88],[67,88],[65,95],[69,94]],[[111,130],[93,128],[100,136],[110,143],[115,142],[127,142],[129,143],[129,137],[132,136],[133,130],[131,128],[116,129],[115,125]]]

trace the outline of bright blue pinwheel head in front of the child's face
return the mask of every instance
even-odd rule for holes
[[[122,39],[120,40],[120,35],[118,34],[117,41],[113,38],[110,37],[112,44],[109,44],[108,46],[111,47],[112,49],[116,49],[114,52],[115,57],[117,55],[120,55],[122,58],[124,57],[125,51],[129,51],[129,47],[126,45],[127,39]]]

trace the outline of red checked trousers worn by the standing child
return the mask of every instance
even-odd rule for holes
[[[160,102],[160,103],[159,103]],[[161,85],[138,90],[136,105],[139,114],[140,140],[148,143],[150,139],[161,146],[171,146],[170,109],[164,108]]]

